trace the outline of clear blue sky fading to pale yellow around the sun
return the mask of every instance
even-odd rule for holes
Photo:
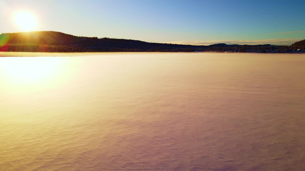
[[[146,42],[292,44],[305,39],[305,1],[0,0],[0,33],[21,32],[16,12],[37,31]]]

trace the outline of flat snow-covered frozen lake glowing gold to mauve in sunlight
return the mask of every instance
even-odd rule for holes
[[[305,54],[0,56],[1,171],[305,170]]]

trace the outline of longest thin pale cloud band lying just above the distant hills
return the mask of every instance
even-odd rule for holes
[[[271,44],[271,45],[290,45],[300,39],[265,39],[265,40],[213,40],[213,41],[197,41],[197,40],[183,40],[183,41],[174,41],[174,42],[163,42],[171,44],[190,44],[190,45],[210,45],[210,44],[248,44],[248,45],[257,45],[257,44]]]

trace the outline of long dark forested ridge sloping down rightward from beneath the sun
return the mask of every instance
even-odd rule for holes
[[[0,51],[23,52],[192,52],[192,51],[266,51],[279,46],[213,44],[182,45],[149,43],[140,40],[79,37],[55,31],[0,34]],[[282,47],[284,48],[284,47]],[[285,46],[285,48],[287,48]]]

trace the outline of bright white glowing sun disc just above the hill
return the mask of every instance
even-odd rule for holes
[[[15,14],[15,22],[22,31],[33,31],[37,26],[35,16],[25,11],[20,11]]]

